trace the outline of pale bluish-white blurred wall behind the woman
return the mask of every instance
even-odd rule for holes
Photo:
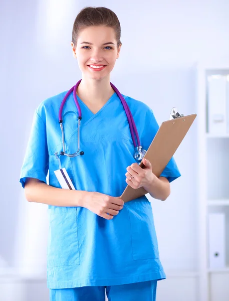
[[[184,114],[195,112],[194,62],[228,57],[226,0],[1,1],[0,145],[4,172],[0,173],[0,229],[5,231],[1,231],[0,258],[9,266],[25,266],[25,242],[34,244],[32,235],[25,231],[33,225],[23,223],[33,210],[19,183],[33,113],[42,100],[80,79],[70,48],[71,32],[78,12],[89,5],[112,9],[121,23],[123,46],[112,82],[123,94],[146,102],[159,123],[168,118],[173,106]],[[166,202],[153,200],[165,270],[197,268],[195,135],[193,125],[175,155],[182,177],[172,183],[171,196]],[[36,205],[37,220],[42,223],[45,207]],[[39,272],[44,269],[45,273],[45,228],[42,231],[42,255],[31,258],[28,266],[39,260]]]

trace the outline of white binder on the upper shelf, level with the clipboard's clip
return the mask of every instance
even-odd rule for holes
[[[226,75],[210,75],[207,77],[208,82],[208,101],[207,101],[207,128],[210,134],[225,134],[227,131],[226,120]]]

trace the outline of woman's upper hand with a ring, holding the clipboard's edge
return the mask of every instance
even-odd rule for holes
[[[134,189],[149,187],[157,178],[152,173],[151,163],[145,158],[142,160],[142,163],[145,166],[144,168],[141,168],[137,163],[127,167],[127,173],[125,174],[126,183]]]

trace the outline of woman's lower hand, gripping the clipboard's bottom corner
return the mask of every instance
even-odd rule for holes
[[[95,214],[110,220],[123,209],[123,200],[100,192],[89,192],[85,196],[83,207],[89,209]],[[109,214],[108,214],[109,213]]]

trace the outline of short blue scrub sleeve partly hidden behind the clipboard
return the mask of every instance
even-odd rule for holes
[[[153,111],[149,109],[146,113],[144,128],[142,131],[141,143],[142,148],[147,150],[149,145],[151,144],[153,138],[155,137],[157,131],[159,129],[159,125],[154,117]],[[169,182],[174,181],[175,179],[179,178],[180,172],[176,165],[174,158],[172,157],[171,160],[168,162],[167,166],[163,170],[160,177],[165,177]]]

